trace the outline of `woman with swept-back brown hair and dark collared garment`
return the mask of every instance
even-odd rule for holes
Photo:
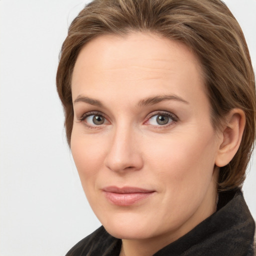
[[[94,0],[71,23],[57,90],[102,226],[67,255],[253,255],[240,188],[254,74],[219,0]]]

